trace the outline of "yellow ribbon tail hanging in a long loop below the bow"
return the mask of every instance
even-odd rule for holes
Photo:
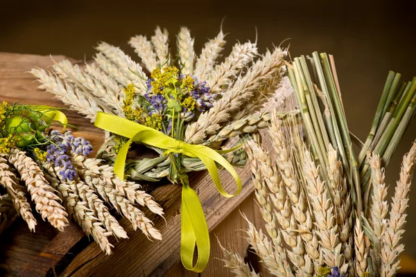
[[[200,273],[209,260],[209,232],[198,195],[187,184],[182,186],[180,258],[188,270]],[[196,244],[198,259],[193,265]]]

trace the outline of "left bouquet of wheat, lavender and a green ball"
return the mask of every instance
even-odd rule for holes
[[[0,201],[2,220],[10,218],[14,206],[15,213],[35,231],[28,193],[42,219],[63,231],[72,216],[107,254],[112,248],[110,236],[128,238],[108,206],[128,218],[135,230],[161,240],[159,231],[135,204],[161,216],[162,208],[139,185],[116,177],[111,166],[87,158],[92,152],[89,141],[71,131],[53,129],[62,126],[68,126],[67,118],[59,109],[0,105],[0,183],[7,193]],[[3,225],[7,223],[1,222]]]

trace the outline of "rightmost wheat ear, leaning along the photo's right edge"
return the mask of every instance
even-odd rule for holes
[[[401,238],[406,224],[406,209],[408,208],[410,185],[413,177],[416,159],[416,143],[413,143],[410,152],[404,155],[401,163],[400,177],[397,181],[395,195],[392,197],[390,220],[383,235],[383,248],[381,249],[381,276],[395,276],[399,267],[399,254],[404,250]]]

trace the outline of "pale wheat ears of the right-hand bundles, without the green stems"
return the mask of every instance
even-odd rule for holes
[[[274,276],[322,276],[325,268],[338,268],[345,276],[363,276],[371,266],[379,276],[395,276],[399,253],[404,250],[401,237],[416,144],[401,164],[390,218],[381,159],[368,154],[372,202],[369,214],[357,217],[336,149],[329,148],[329,167],[321,170],[304,144],[300,128],[284,125],[275,112],[269,132],[274,152],[253,140],[245,145],[266,223],[263,232],[245,218],[249,224],[245,232],[268,272]],[[323,172],[329,181],[323,181]],[[237,253],[223,252],[225,267],[236,276],[256,276]]]

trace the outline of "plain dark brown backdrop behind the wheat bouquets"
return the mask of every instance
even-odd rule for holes
[[[196,37],[197,53],[223,30],[227,48],[239,39],[255,39],[259,49],[290,43],[293,57],[313,51],[335,56],[349,128],[361,139],[372,118],[389,70],[404,80],[416,75],[416,1],[1,1],[0,51],[61,54],[89,60],[98,41],[135,56],[132,35],[153,35],[168,28],[171,42],[180,26]],[[173,47],[175,48],[175,47]],[[387,170],[390,193],[401,156],[416,139],[416,121],[399,145]],[[410,199],[406,252],[416,257],[416,190]]]

